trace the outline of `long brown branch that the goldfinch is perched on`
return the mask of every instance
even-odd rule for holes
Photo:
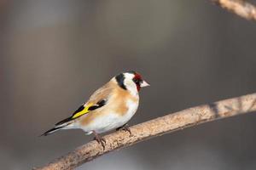
[[[73,150],[66,156],[56,159],[45,167],[34,169],[73,169],[110,151],[124,148],[143,140],[151,139],[165,133],[172,133],[185,127],[193,127],[203,122],[210,122],[252,111],[256,111],[256,94],[225,99],[209,105],[200,105],[133,126],[131,127],[131,136],[127,132],[108,134],[104,136],[107,141],[105,150],[102,150],[101,144],[91,141]]]

